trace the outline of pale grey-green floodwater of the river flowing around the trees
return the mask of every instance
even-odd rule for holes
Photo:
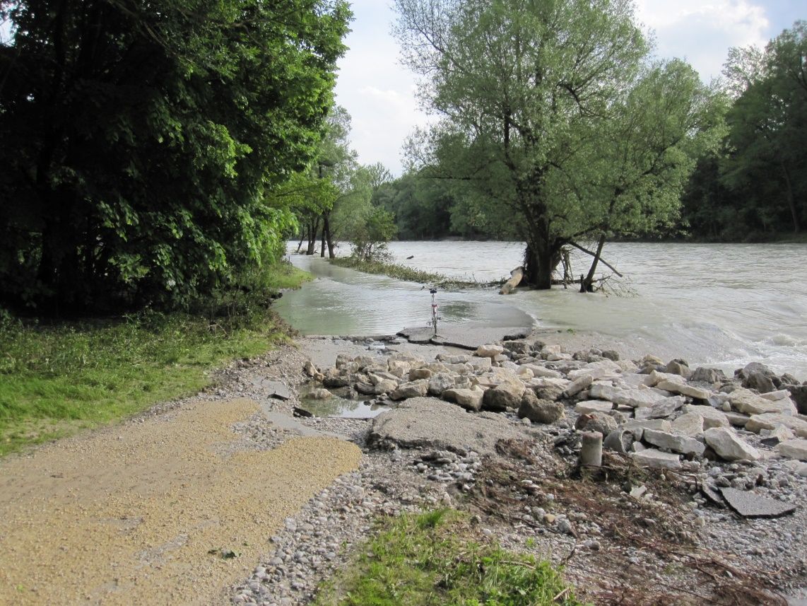
[[[396,263],[491,281],[521,265],[524,245],[392,242],[390,249]],[[441,322],[520,326],[531,320],[539,329],[587,335],[588,342],[626,357],[683,357],[692,366],[728,372],[760,361],[807,380],[807,245],[614,243],[603,257],[625,276],[613,283],[619,296],[571,287],[506,297],[494,288],[440,290]],[[303,334],[393,334],[429,321],[431,301],[422,284],[334,267],[318,257],[292,254],[291,260],[317,276],[277,303]],[[589,263],[587,255],[572,255],[576,275]]]

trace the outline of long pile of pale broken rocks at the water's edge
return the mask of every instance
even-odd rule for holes
[[[616,351],[570,354],[506,341],[431,361],[339,356],[334,367],[320,372],[309,364],[307,373],[319,389],[378,402],[432,396],[532,423],[567,423],[568,414],[578,430],[600,431],[605,448],[650,467],[696,469],[704,457],[758,461],[763,447],[807,461],[807,385],[758,363],[728,378],[715,368],[693,372],[685,360],[621,360]]]

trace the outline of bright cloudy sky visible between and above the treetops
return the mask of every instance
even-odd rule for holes
[[[364,164],[401,172],[401,145],[426,123],[415,100],[415,79],[398,63],[390,35],[390,0],[353,0],[354,20],[340,61],[337,103],[353,117],[351,140]],[[654,31],[658,57],[683,57],[709,82],[720,75],[732,46],[763,47],[807,19],[804,0],[638,0],[638,18]]]

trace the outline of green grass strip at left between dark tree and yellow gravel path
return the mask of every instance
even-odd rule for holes
[[[288,288],[306,276],[274,267],[264,277]],[[0,315],[0,456],[198,393],[212,368],[287,339],[266,297],[215,298],[208,314],[48,324]]]

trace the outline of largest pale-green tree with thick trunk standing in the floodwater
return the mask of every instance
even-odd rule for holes
[[[602,137],[618,130],[605,124],[625,119],[626,95],[647,74],[648,46],[633,23],[632,3],[396,0],[395,6],[404,59],[423,77],[425,105],[442,118],[421,133],[425,161],[467,183],[468,196],[483,200],[488,212],[510,217],[527,244],[526,281],[550,288],[562,246],[625,223],[613,217],[614,191],[624,199],[633,181],[608,183],[617,172],[597,150]],[[665,145],[677,145],[691,126]],[[676,162],[666,147],[651,156],[650,172]],[[652,192],[643,197],[646,204]],[[646,217],[650,207],[636,216]]]

